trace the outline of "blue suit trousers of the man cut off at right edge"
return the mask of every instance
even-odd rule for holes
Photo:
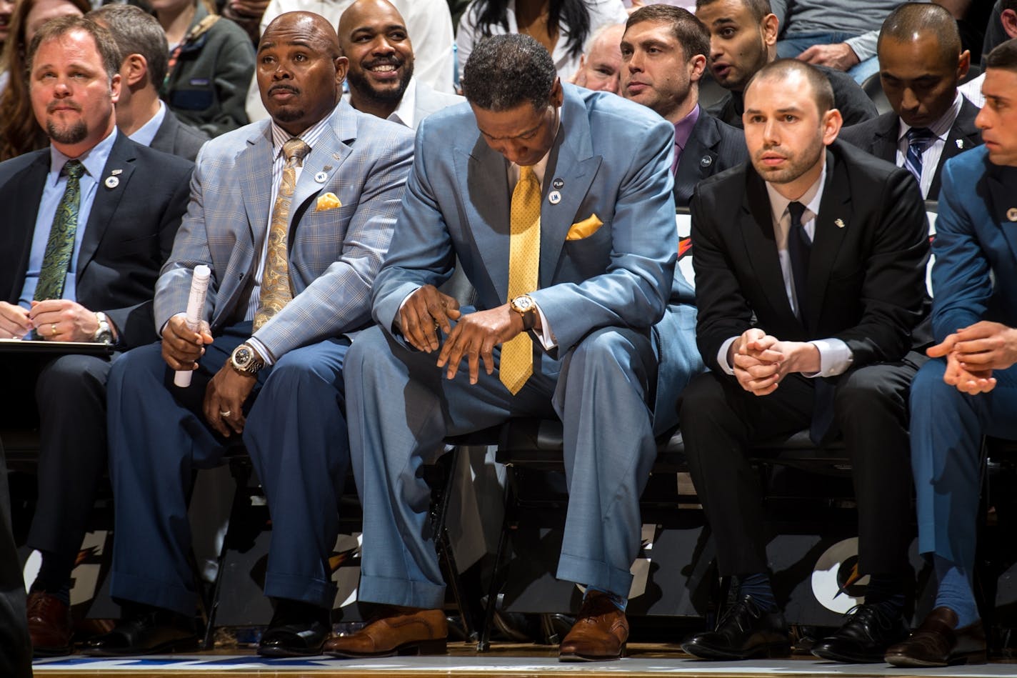
[[[974,569],[981,437],[1017,440],[1017,365],[995,370],[989,393],[967,395],[943,381],[946,360],[926,362],[911,386],[911,469],[918,552]]]

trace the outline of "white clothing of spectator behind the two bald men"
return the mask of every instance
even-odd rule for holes
[[[237,2],[238,0],[230,0]],[[621,0],[618,0],[620,2]],[[334,26],[353,0],[271,0],[261,16],[260,31],[284,12],[308,11],[320,14]],[[406,20],[406,30],[413,41],[414,75],[438,92],[452,94],[456,72],[453,48],[452,18],[445,0],[392,0],[393,6]],[[462,58],[462,57],[461,57]],[[247,116],[251,121],[268,117],[261,103],[257,82],[252,78],[247,88]]]

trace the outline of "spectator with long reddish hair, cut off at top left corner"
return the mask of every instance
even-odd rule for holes
[[[49,144],[46,132],[32,113],[25,54],[36,32],[51,18],[84,14],[88,0],[20,0],[11,15],[9,40],[4,42],[3,72],[6,81],[0,95],[0,162]]]

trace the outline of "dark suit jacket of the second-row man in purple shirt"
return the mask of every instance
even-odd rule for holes
[[[744,132],[701,108],[674,172],[674,206],[689,207],[696,184],[746,160]]]

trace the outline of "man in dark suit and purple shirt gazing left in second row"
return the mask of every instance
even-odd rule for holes
[[[674,205],[687,207],[696,184],[747,160],[744,137],[699,105],[710,35],[690,11],[640,7],[621,37],[621,96],[674,125]]]

